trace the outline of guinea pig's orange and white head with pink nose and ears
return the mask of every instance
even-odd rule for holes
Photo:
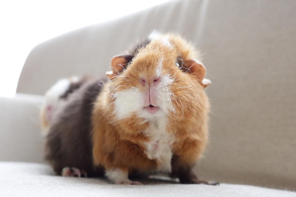
[[[199,113],[207,105],[204,88],[210,84],[199,58],[179,35],[158,32],[132,53],[114,56],[106,74],[116,119],[167,118],[176,123]]]

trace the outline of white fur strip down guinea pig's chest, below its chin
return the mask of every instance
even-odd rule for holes
[[[166,131],[163,119],[151,121],[145,134],[150,138],[145,143],[147,157],[156,159],[158,172],[171,172],[173,135]]]

